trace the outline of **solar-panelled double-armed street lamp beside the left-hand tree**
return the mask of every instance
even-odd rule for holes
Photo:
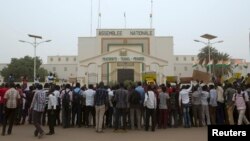
[[[28,43],[28,44],[31,44],[34,47],[34,82],[35,82],[35,80],[36,80],[36,47],[38,45],[40,45],[41,43],[51,42],[51,40],[45,40],[45,41],[37,42],[36,39],[42,39],[42,36],[31,35],[31,34],[28,34],[28,36],[31,37],[31,38],[34,38],[34,42],[28,42],[28,41],[24,41],[24,40],[19,40],[19,42]]]

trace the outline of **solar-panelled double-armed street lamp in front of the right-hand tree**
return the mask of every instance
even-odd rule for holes
[[[223,41],[221,40],[221,41],[216,41],[216,42],[211,43],[210,40],[217,38],[217,36],[210,35],[210,34],[204,34],[204,35],[201,35],[200,37],[207,39],[207,42],[203,42],[200,40],[194,40],[194,41],[199,42],[199,43],[203,43],[208,47],[208,63],[210,63],[210,61],[211,61],[211,45],[216,44],[216,43],[223,43]],[[211,74],[211,65],[209,65],[208,69],[209,69],[208,72]]]

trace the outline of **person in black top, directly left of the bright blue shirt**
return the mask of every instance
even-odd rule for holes
[[[129,95],[129,108],[130,108],[130,120],[131,120],[131,129],[135,128],[135,119],[134,114],[136,114],[137,129],[141,129],[141,95],[138,91],[135,90],[135,86],[131,88],[131,94]]]

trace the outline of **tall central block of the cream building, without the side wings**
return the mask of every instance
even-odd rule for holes
[[[154,35],[154,29],[97,29],[96,37],[78,38],[78,80],[141,81],[156,72],[158,83],[174,75],[173,37]]]

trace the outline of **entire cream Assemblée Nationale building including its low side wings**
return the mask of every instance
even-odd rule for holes
[[[190,78],[194,70],[206,72],[195,65],[197,55],[174,55],[172,36],[155,36],[154,29],[97,29],[96,36],[78,37],[76,56],[48,56],[42,67],[55,73],[59,82],[105,84],[131,81],[180,81]],[[234,73],[245,76],[250,67],[244,59]],[[249,66],[249,63],[247,63]],[[0,64],[0,70],[7,64]],[[3,78],[0,76],[0,82]]]

